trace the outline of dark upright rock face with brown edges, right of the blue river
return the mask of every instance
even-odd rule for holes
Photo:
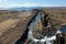
[[[50,29],[51,28],[51,22],[50,22],[50,16],[47,13],[43,12],[41,15],[41,22],[43,28]]]

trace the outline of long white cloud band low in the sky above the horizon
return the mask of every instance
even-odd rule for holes
[[[7,1],[7,0],[6,0]],[[54,4],[40,4],[40,3],[7,3],[0,4],[0,8],[16,8],[16,7],[57,7]]]

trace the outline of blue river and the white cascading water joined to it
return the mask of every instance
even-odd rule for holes
[[[56,40],[56,35],[47,36],[42,35],[40,33],[36,33],[42,36],[42,38],[36,38],[33,36],[33,30],[37,30],[36,23],[41,20],[41,13],[37,14],[37,16],[33,20],[33,22],[29,26],[29,34],[28,40],[30,41],[30,44],[53,44],[53,42]],[[61,33],[61,31],[56,31],[56,34]]]

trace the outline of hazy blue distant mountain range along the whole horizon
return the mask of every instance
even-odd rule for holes
[[[33,10],[33,9],[66,9],[66,7],[21,7],[21,8],[0,8],[0,10],[14,10],[14,11],[22,11],[22,10]]]

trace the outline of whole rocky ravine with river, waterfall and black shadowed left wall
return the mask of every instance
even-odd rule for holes
[[[64,44],[63,38],[59,41],[57,37],[62,37],[62,31],[52,28],[48,13],[37,11],[15,44],[24,44],[26,40],[26,44]]]

